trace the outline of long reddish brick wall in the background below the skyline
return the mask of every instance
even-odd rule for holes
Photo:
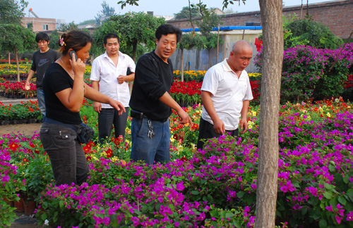
[[[305,4],[303,6],[302,18],[306,15],[306,10]],[[348,39],[349,34],[353,30],[353,0],[309,4],[308,10],[313,20],[326,25],[336,36],[342,39]],[[300,16],[301,6],[288,6],[283,8],[284,15],[290,13],[296,13]],[[247,22],[261,23],[261,14],[260,11],[232,13],[223,15],[221,20],[223,21],[222,26],[244,26]],[[189,19],[169,20],[167,23],[181,29],[191,28]]]

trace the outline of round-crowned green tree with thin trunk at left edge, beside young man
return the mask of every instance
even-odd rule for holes
[[[4,51],[15,51],[17,80],[20,82],[18,52],[34,49],[35,35],[25,27],[16,24],[0,24],[0,47]]]

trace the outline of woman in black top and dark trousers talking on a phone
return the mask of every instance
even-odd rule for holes
[[[55,184],[82,184],[88,177],[88,164],[76,131],[80,125],[83,97],[109,103],[125,112],[124,106],[101,94],[83,82],[85,61],[89,57],[92,37],[85,32],[71,31],[61,35],[58,42],[61,58],[47,68],[43,79],[47,116],[40,129],[40,139],[47,151],[54,172]],[[70,51],[73,57],[70,56]],[[77,56],[77,60],[76,57]],[[74,127],[73,127],[74,128]]]

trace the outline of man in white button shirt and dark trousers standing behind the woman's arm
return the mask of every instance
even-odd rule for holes
[[[119,36],[109,33],[104,36],[104,54],[95,58],[92,63],[90,80],[92,87],[116,101],[120,101],[126,112],[119,115],[109,104],[95,102],[93,109],[98,113],[98,130],[100,143],[109,139],[114,125],[115,137],[124,137],[128,118],[130,90],[128,82],[135,78],[136,65],[130,56],[119,51]]]

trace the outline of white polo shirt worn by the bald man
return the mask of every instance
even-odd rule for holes
[[[217,63],[208,69],[203,78],[201,90],[212,94],[213,106],[215,106],[217,115],[225,123],[225,129],[228,131],[237,129],[243,101],[253,99],[248,73],[243,70],[238,78],[229,67],[226,58],[222,63]],[[201,117],[213,124],[205,107],[203,107]]]

